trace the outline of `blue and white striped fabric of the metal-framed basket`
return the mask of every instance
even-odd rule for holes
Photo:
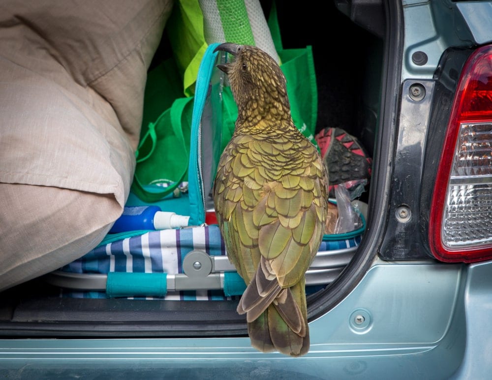
[[[361,237],[340,241],[323,241],[320,251],[357,246]],[[71,273],[184,273],[183,259],[193,250],[208,255],[226,255],[225,245],[217,225],[178,230],[150,231],[98,246],[82,258],[65,265],[62,271]],[[105,292],[67,292],[62,296],[105,298]],[[153,299],[155,297],[134,297]],[[168,291],[166,300],[224,300],[222,290]]]

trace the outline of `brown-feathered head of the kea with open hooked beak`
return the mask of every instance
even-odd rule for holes
[[[290,119],[287,82],[274,58],[255,46],[230,42],[218,45],[216,51],[234,56],[231,62],[217,67],[229,78],[238,117],[243,116],[244,120]]]

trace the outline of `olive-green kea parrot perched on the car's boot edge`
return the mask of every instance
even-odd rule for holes
[[[217,65],[238,117],[212,191],[227,255],[247,284],[237,311],[246,314],[255,349],[304,355],[306,271],[325,232],[328,171],[294,125],[277,62],[249,45],[226,42],[215,51],[234,56]]]

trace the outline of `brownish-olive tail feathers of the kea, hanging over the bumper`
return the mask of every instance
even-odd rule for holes
[[[289,289],[299,306],[303,318],[303,328],[293,331],[282,314],[282,306],[289,303],[272,303],[256,320],[248,323],[251,346],[262,352],[278,351],[290,356],[301,356],[309,351],[309,329],[304,281]]]

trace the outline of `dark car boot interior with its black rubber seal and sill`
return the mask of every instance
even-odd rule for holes
[[[266,8],[269,2],[262,4]],[[370,17],[361,18],[364,14]],[[391,127],[397,100],[394,96],[381,98],[381,93],[398,92],[400,73],[393,62],[399,61],[401,54],[400,31],[395,29],[399,19],[394,17],[393,24],[387,25],[388,15],[398,14],[395,9],[385,13],[378,3],[351,6],[350,1],[336,1],[278,7],[284,48],[311,45],[313,49],[318,89],[316,131],[327,127],[345,130],[359,139],[373,160],[372,177],[359,197],[369,205],[366,232],[352,261],[335,281],[308,295],[310,321],[335,307],[362,279],[375,258],[384,224],[391,134],[380,126]],[[61,297],[60,293],[43,277],[0,293],[0,335],[246,336],[246,319],[237,314],[237,301],[92,299]]]

